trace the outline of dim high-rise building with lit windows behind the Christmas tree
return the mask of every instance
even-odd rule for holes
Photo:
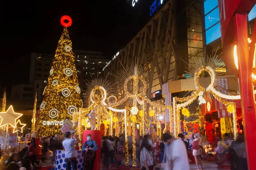
[[[75,50],[74,53],[79,86],[81,89],[85,89],[90,79],[101,76],[102,69],[109,60],[105,59],[103,53],[98,51]],[[13,101],[33,101],[35,91],[38,89],[38,101],[41,101],[53,59],[54,55],[51,54],[32,53],[29,84],[13,85],[11,99]]]

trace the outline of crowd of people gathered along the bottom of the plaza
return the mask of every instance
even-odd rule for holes
[[[129,138],[128,138],[129,139]],[[228,136],[225,136],[229,140]],[[229,140],[230,141],[230,140]],[[160,139],[157,137],[159,144],[159,151],[153,151],[154,144],[152,143],[149,134],[145,136],[137,136],[136,140],[136,155],[140,162],[142,170],[153,170],[153,167],[158,163],[156,161],[156,154],[160,152],[159,162],[163,170],[189,170],[189,164],[196,164],[197,170],[201,168],[204,170],[201,161],[201,137],[199,133],[188,132],[178,134],[178,139],[173,138],[169,133],[162,135]],[[42,155],[41,161],[45,162],[47,153],[52,151],[52,162],[55,161],[55,150],[65,149],[66,170],[77,169],[77,160],[75,155],[75,147],[78,146],[76,137],[70,132],[64,133],[64,139],[56,140],[54,136],[45,136],[41,139]],[[121,165],[121,161],[125,158],[125,136],[119,137],[102,136],[101,141],[101,162],[103,169],[107,170]],[[132,144],[128,140],[128,150],[132,149]],[[236,141],[230,144],[230,153],[232,170],[247,170],[247,160],[245,152],[244,136],[239,134]],[[38,159],[36,156],[36,142],[35,138],[26,145],[19,153],[13,153],[6,163],[6,170],[32,170],[33,168],[39,169]],[[96,160],[96,151],[99,146],[93,136],[87,135],[87,140],[82,145],[84,152],[84,169],[93,170],[93,165]],[[132,151],[132,150],[131,150]]]

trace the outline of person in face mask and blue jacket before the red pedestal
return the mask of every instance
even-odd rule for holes
[[[96,159],[96,151],[98,150],[98,144],[92,139],[90,134],[87,135],[87,141],[84,142],[82,151],[85,152],[84,163],[85,170],[93,170],[93,164]]]

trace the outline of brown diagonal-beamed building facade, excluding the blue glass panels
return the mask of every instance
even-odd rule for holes
[[[151,99],[156,97],[155,92],[157,96],[162,96],[162,86],[166,82],[185,78],[184,71],[189,57],[193,54],[203,54],[201,0],[160,2],[163,3],[154,3],[152,0],[149,8],[152,9],[156,5],[158,11],[152,14],[151,20],[143,29],[117,52],[118,55],[114,55],[103,72],[105,76],[110,73],[109,81],[115,82],[114,75],[117,70],[138,63],[153,75],[147,80],[151,92],[148,97]],[[156,100],[155,102],[164,104],[162,97],[157,97]]]

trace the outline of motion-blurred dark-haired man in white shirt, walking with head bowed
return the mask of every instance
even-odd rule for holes
[[[174,139],[169,134],[163,135],[164,142],[169,145],[165,151],[172,170],[189,170],[189,159],[186,146],[182,140]]]

